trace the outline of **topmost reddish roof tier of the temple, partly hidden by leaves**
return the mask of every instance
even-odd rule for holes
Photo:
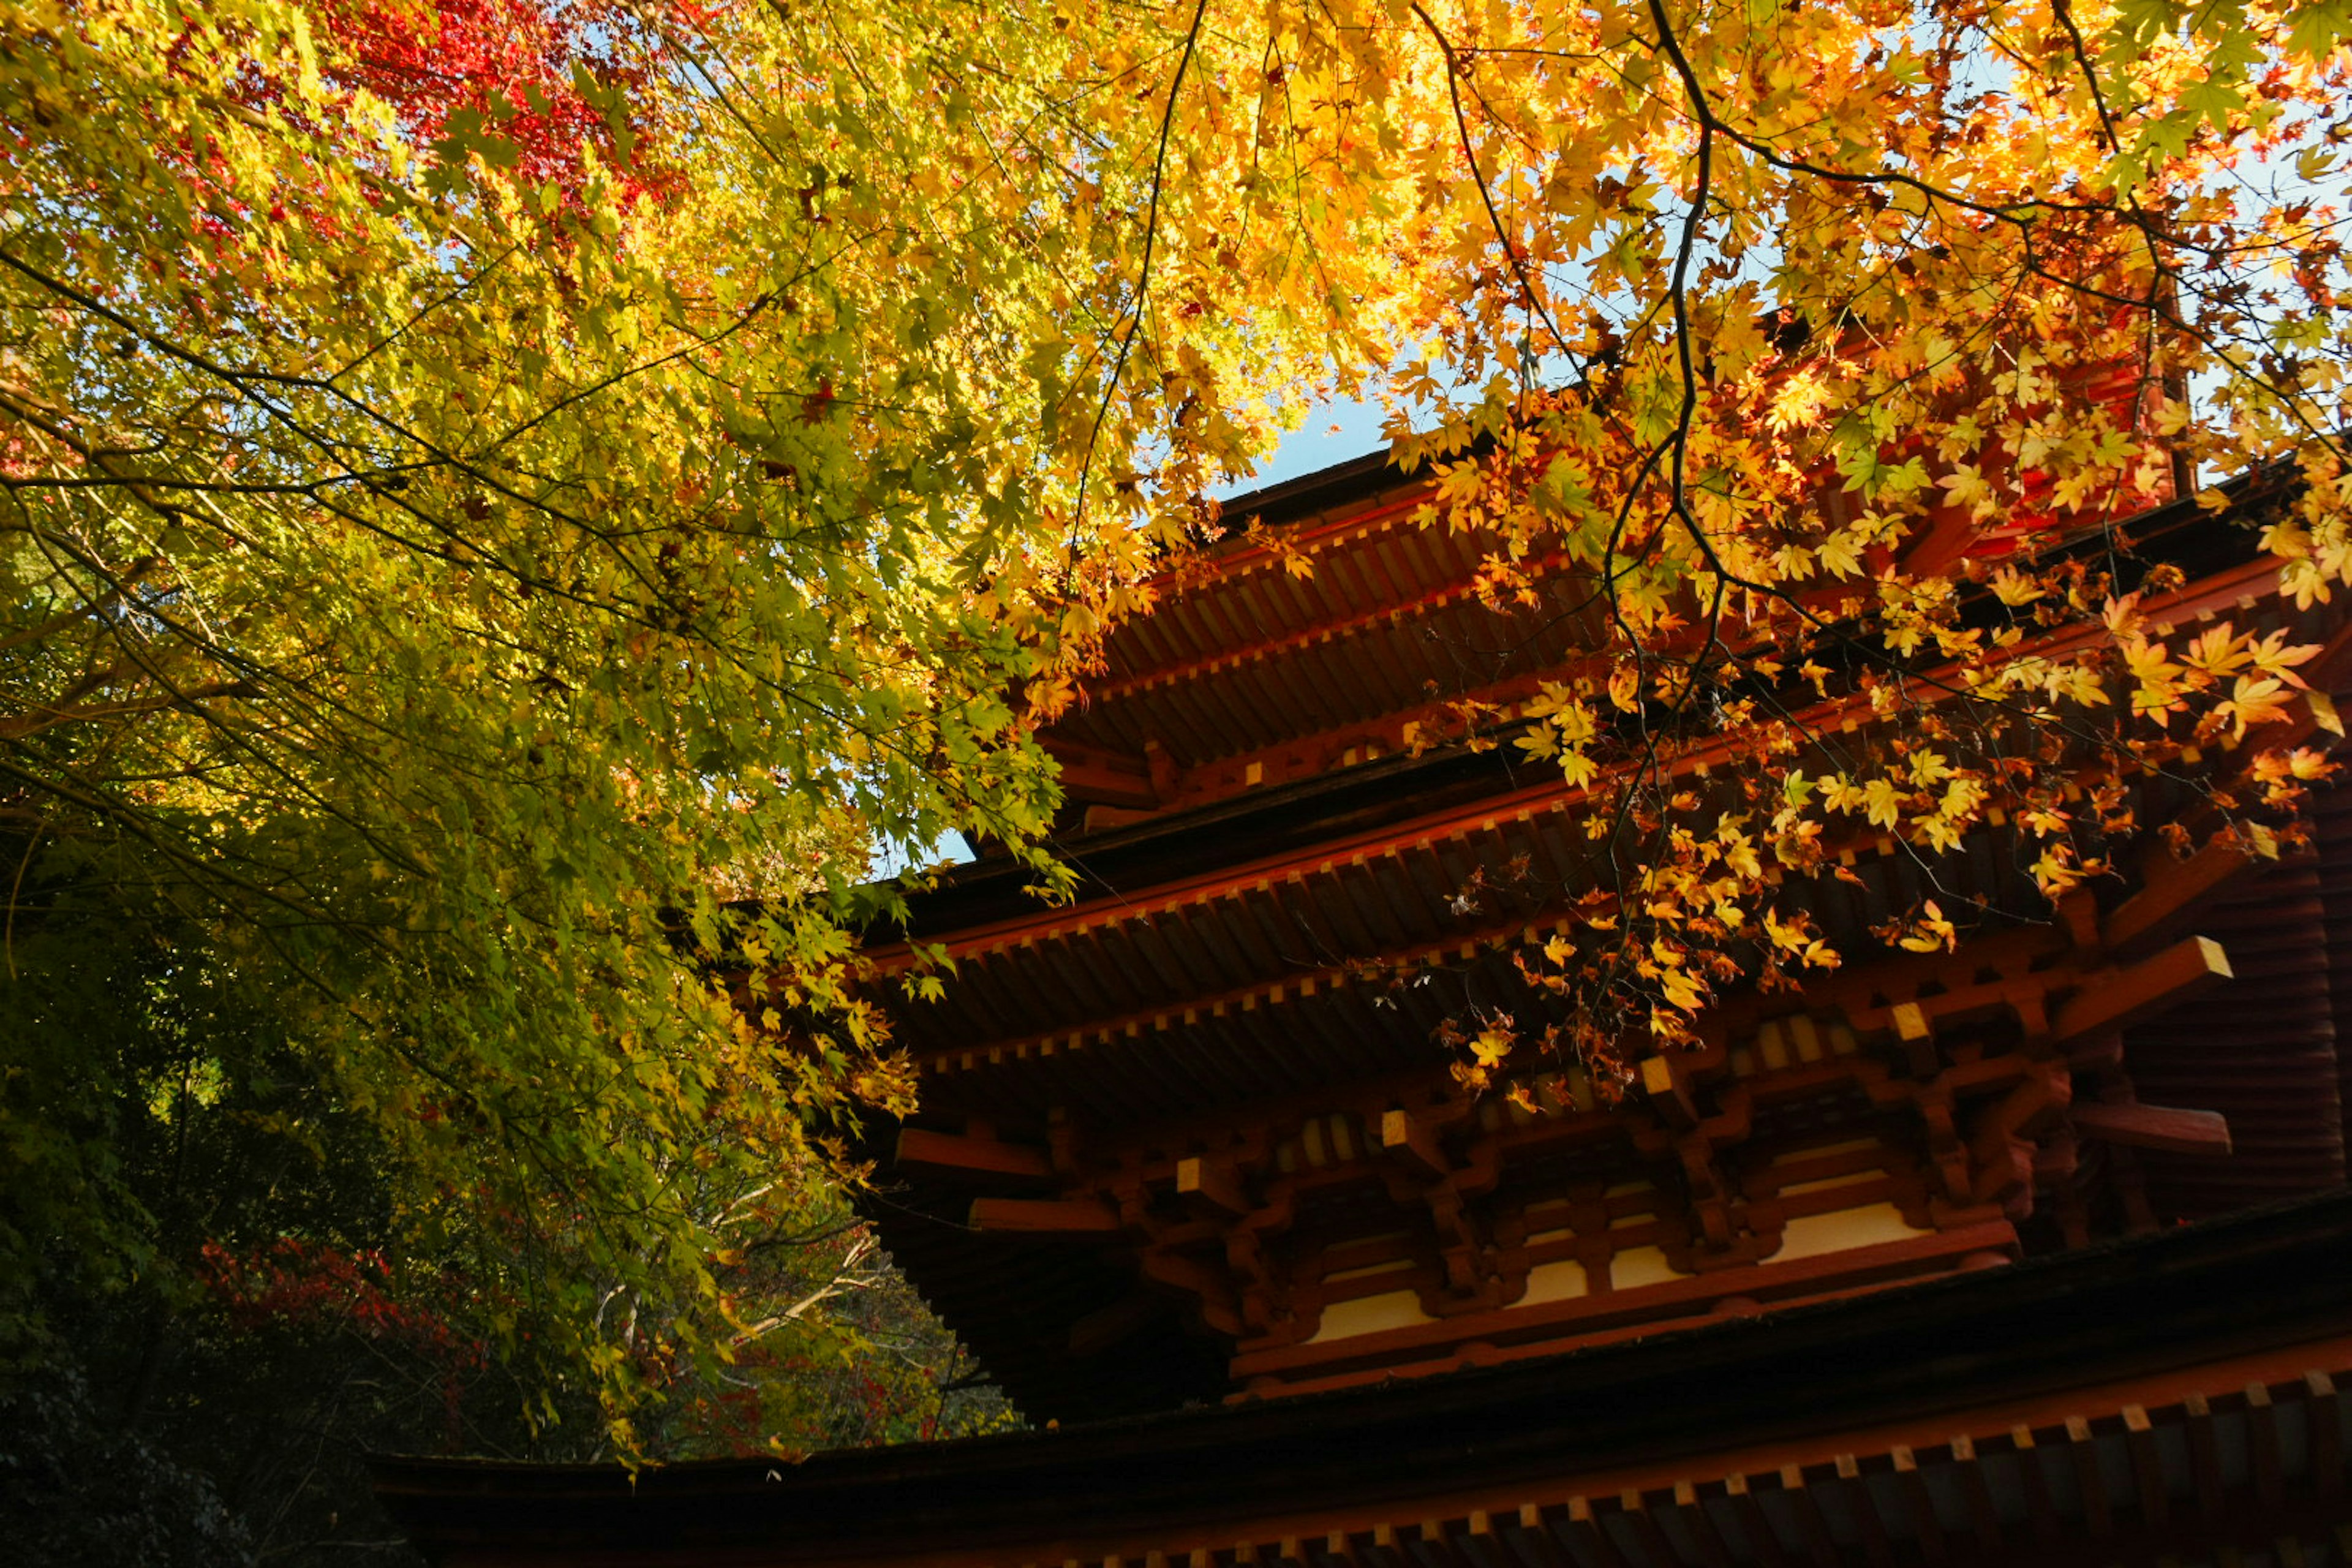
[[[2086,393],[2129,409],[2138,381]],[[1926,576],[2002,555],[2049,522],[2034,510],[2044,489],[2027,477],[2018,512],[1990,527],[1931,505],[1865,564]],[[1432,520],[1437,494],[1435,470],[1406,475],[1374,451],[1225,503],[1225,538],[1152,578],[1150,614],[1108,635],[1103,670],[1042,731],[1063,764],[1058,827],[1122,827],[1510,722],[1545,677],[1606,644],[1590,567],[1562,550],[1512,559],[1501,536]],[[1853,508],[1842,477],[1820,473],[1811,512],[1842,527]],[[1491,592],[1498,559],[1510,581]]]

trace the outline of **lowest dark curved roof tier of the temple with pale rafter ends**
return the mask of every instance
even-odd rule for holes
[[[1444,1378],[802,1465],[379,1460],[376,1488],[445,1568],[2333,1561],[2347,1246],[2338,1192]]]

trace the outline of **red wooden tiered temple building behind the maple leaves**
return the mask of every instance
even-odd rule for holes
[[[2352,618],[2246,527],[2281,484],[2133,520],[2180,583],[2147,609],[2352,686]],[[1080,898],[983,858],[915,907],[955,969],[901,1006],[873,1218],[1033,1429],[635,1483],[386,1460],[430,1556],[2352,1561],[2352,792],[2056,914],[2002,825],[1860,832],[1804,889],[1844,969],[1733,990],[1623,1095],[1517,1058],[1472,1095],[1432,1032],[1543,1016],[1517,959],[1592,849],[1583,790],[1458,722],[1508,738],[1595,611],[1566,571],[1486,607],[1423,498],[1376,458],[1251,498],[1047,736]],[[1922,896],[2004,919],[1870,943]]]

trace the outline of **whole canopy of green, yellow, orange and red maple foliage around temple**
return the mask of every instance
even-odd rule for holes
[[[1583,1060],[1837,961],[1776,889],[1849,830],[2002,813],[2056,893],[2129,825],[2077,776],[2253,830],[2326,769],[2310,651],[2145,623],[2114,524],[2291,463],[2267,548],[2352,571],[2333,0],[0,26],[12,985],[61,1018],[45,952],[129,919],[268,997],[623,1446],[757,1319],[774,1175],[906,1105],[863,846],[1065,889],[1028,731],[1317,400],[1388,400],[1491,595],[1604,611],[1461,715],[1592,788],[1613,882],[1529,959]],[[136,1258],[16,1051],[14,1234]]]

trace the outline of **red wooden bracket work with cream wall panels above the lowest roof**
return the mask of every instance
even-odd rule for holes
[[[1174,1300],[1256,1392],[1992,1265],[2037,1204],[2070,1239],[2086,1229],[2086,1140],[2227,1150],[2218,1117],[2140,1105],[2119,1041],[2227,978],[2220,947],[2176,926],[2258,860],[2206,851],[2105,919],[2077,900],[2046,926],[1830,976],[1802,1009],[1743,999],[1616,1103],[1538,1060],[1517,1095],[1418,1072],[1101,1145],[1070,1119],[1049,1147],[908,1131],[901,1159],[997,1182],[969,1213],[983,1232],[1131,1251],[1136,1300],[1082,1319],[1075,1354]],[[2107,1201],[2152,1225],[2129,1157],[2100,1171]]]

